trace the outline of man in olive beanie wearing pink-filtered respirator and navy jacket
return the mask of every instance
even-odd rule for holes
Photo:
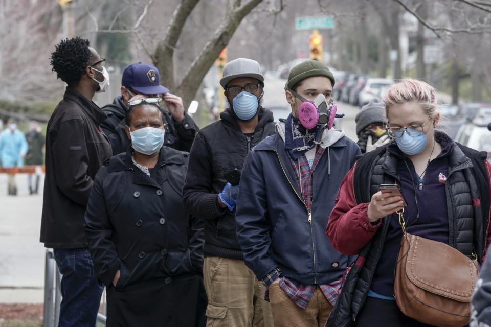
[[[358,146],[334,129],[334,77],[319,61],[294,68],[285,86],[292,113],[259,143],[242,171],[237,237],[245,264],[267,287],[275,326],[324,326],[352,258],[324,228]]]

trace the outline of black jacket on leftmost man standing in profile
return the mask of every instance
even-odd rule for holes
[[[87,247],[83,216],[93,178],[111,147],[94,102],[67,87],[48,122],[41,237],[46,247]]]

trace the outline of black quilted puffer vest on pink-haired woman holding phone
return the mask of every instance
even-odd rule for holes
[[[461,253],[475,253],[481,264],[488,228],[489,184],[484,160],[486,154],[453,143],[449,155],[449,173],[445,189],[449,213],[450,245]],[[367,178],[367,175],[369,176]],[[354,193],[356,203],[367,203],[378,185],[399,182],[397,159],[387,146],[369,152],[356,162]],[[483,197],[481,197],[481,194]],[[480,199],[480,204],[473,203]],[[478,217],[479,219],[474,219]],[[353,326],[370,289],[389,228],[386,217],[373,239],[360,252],[348,274],[336,308],[326,326]],[[393,219],[393,218],[392,218]]]

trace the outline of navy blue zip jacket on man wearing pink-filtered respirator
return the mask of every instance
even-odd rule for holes
[[[245,264],[258,279],[275,268],[302,285],[341,278],[350,257],[334,250],[324,230],[341,181],[359,154],[346,136],[326,149],[313,174],[309,222],[281,136],[276,133],[252,149],[242,170],[235,217]]]

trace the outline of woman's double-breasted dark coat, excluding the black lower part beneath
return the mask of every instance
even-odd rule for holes
[[[183,207],[188,154],[160,150],[156,179],[133,165],[132,151],[108,160],[97,173],[85,213],[95,271],[116,289],[197,273],[203,265],[203,221]]]

